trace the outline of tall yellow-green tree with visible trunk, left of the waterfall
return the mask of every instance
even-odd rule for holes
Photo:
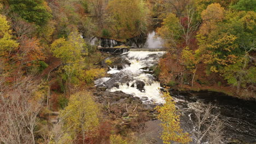
[[[65,82],[67,81],[68,95],[70,95],[71,83],[79,83],[79,80],[84,79],[85,62],[82,55],[86,55],[87,46],[75,31],[68,36],[68,40],[64,38],[55,40],[51,44],[51,52],[62,61],[61,76]]]

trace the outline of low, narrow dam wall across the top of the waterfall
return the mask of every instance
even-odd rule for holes
[[[129,46],[117,46],[117,47],[97,47],[98,51],[107,52],[107,53],[124,53],[128,51],[166,51],[165,48],[148,48],[148,49],[140,49],[135,47],[129,47]]]

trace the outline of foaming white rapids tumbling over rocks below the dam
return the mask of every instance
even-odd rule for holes
[[[150,72],[149,67],[157,64],[159,58],[164,55],[164,53],[165,52],[163,51],[126,52],[123,54],[122,58],[126,59],[131,64],[125,65],[121,70],[118,70],[117,67],[109,68],[110,70],[107,73],[112,74],[112,77],[103,77],[102,79],[96,80],[95,85],[99,86],[108,85],[108,83],[117,83],[118,86],[115,85],[114,87],[110,87],[108,88],[108,91],[122,91],[126,94],[131,94],[133,97],[141,98],[145,103],[164,103],[164,99],[161,98],[160,83],[154,81],[152,74],[145,73],[146,71]],[[126,79],[127,81],[120,81],[117,77],[121,77],[121,79]]]

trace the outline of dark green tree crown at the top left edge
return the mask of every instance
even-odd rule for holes
[[[9,0],[9,4],[13,13],[38,26],[45,25],[51,19],[50,10],[44,0]]]

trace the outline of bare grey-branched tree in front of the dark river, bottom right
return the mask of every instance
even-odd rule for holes
[[[208,143],[220,143],[223,140],[224,123],[219,119],[219,113],[212,113],[214,106],[208,104],[204,106],[202,102],[197,103],[195,109],[195,130],[194,137],[197,144],[204,140]]]

